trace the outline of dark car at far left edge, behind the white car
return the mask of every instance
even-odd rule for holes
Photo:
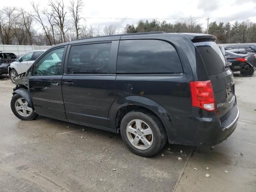
[[[8,74],[8,66],[16,60],[14,53],[0,51],[0,75]]]

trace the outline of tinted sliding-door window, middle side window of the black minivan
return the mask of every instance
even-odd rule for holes
[[[72,46],[67,74],[106,74],[111,43]]]

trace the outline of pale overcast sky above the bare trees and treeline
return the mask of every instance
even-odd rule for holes
[[[34,0],[40,7],[47,7],[48,0]],[[70,0],[64,0],[66,6]],[[32,11],[29,0],[1,0],[1,7],[24,7]],[[84,0],[82,16],[87,26],[102,29],[113,24],[120,31],[126,24],[136,24],[139,19],[156,18],[174,23],[185,21],[190,16],[206,28],[209,22],[231,22],[234,20],[256,22],[256,0]],[[69,17],[70,18],[70,17]],[[119,19],[122,18],[122,19]],[[35,25],[35,27],[39,27]]]

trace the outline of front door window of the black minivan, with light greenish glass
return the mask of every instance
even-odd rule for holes
[[[44,55],[34,66],[34,76],[60,75],[64,48],[58,48]]]

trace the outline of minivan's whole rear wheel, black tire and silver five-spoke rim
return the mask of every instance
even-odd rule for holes
[[[144,110],[128,112],[122,119],[120,132],[126,146],[144,157],[157,154],[167,140],[160,120]]]

